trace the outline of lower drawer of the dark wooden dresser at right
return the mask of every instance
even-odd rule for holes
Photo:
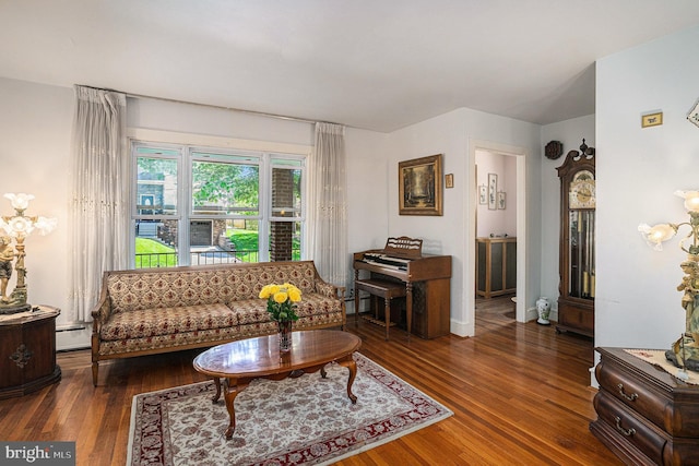
[[[612,427],[620,441],[633,445],[655,464],[672,464],[672,461],[663,461],[668,439],[657,428],[605,391],[600,391],[593,403],[599,420]]]

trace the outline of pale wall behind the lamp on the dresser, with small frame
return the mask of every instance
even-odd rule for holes
[[[597,62],[597,346],[668,348],[685,330],[678,239],[652,251],[637,227],[689,218],[673,192],[699,188],[697,44],[699,26]]]

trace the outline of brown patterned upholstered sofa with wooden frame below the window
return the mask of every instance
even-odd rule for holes
[[[344,287],[323,282],[312,261],[105,272],[92,312],[92,377],[100,360],[215,346],[277,331],[259,292],[301,290],[294,328],[346,323]]]

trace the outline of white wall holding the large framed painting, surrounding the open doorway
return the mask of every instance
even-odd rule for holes
[[[423,250],[433,254],[452,256],[451,332],[457,335],[474,334],[475,280],[475,186],[476,144],[491,142],[494,146],[514,147],[525,154],[524,174],[531,182],[528,192],[526,218],[522,222],[530,238],[538,238],[540,127],[471,109],[458,109],[430,120],[413,124],[390,134],[389,153],[389,234],[423,239]],[[398,214],[398,164],[401,160],[443,154],[443,172],[454,174],[454,188],[445,190],[443,216],[401,216]],[[541,244],[528,241],[531,258],[537,258]],[[519,260],[519,256],[518,256]],[[526,262],[526,261],[525,261]],[[529,261],[523,306],[533,304],[538,295],[538,267]],[[532,271],[536,270],[535,274]],[[519,277],[518,277],[519,279]]]

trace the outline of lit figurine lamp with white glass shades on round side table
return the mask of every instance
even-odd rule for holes
[[[4,195],[12,203],[14,215],[0,218],[0,314],[12,314],[28,311],[32,306],[26,302],[26,256],[24,239],[34,230],[47,235],[56,227],[56,218],[27,216],[24,211],[34,199],[32,194],[7,193]],[[14,248],[12,241],[14,240]],[[14,290],[8,295],[8,285],[12,276],[12,264],[16,271]]]

